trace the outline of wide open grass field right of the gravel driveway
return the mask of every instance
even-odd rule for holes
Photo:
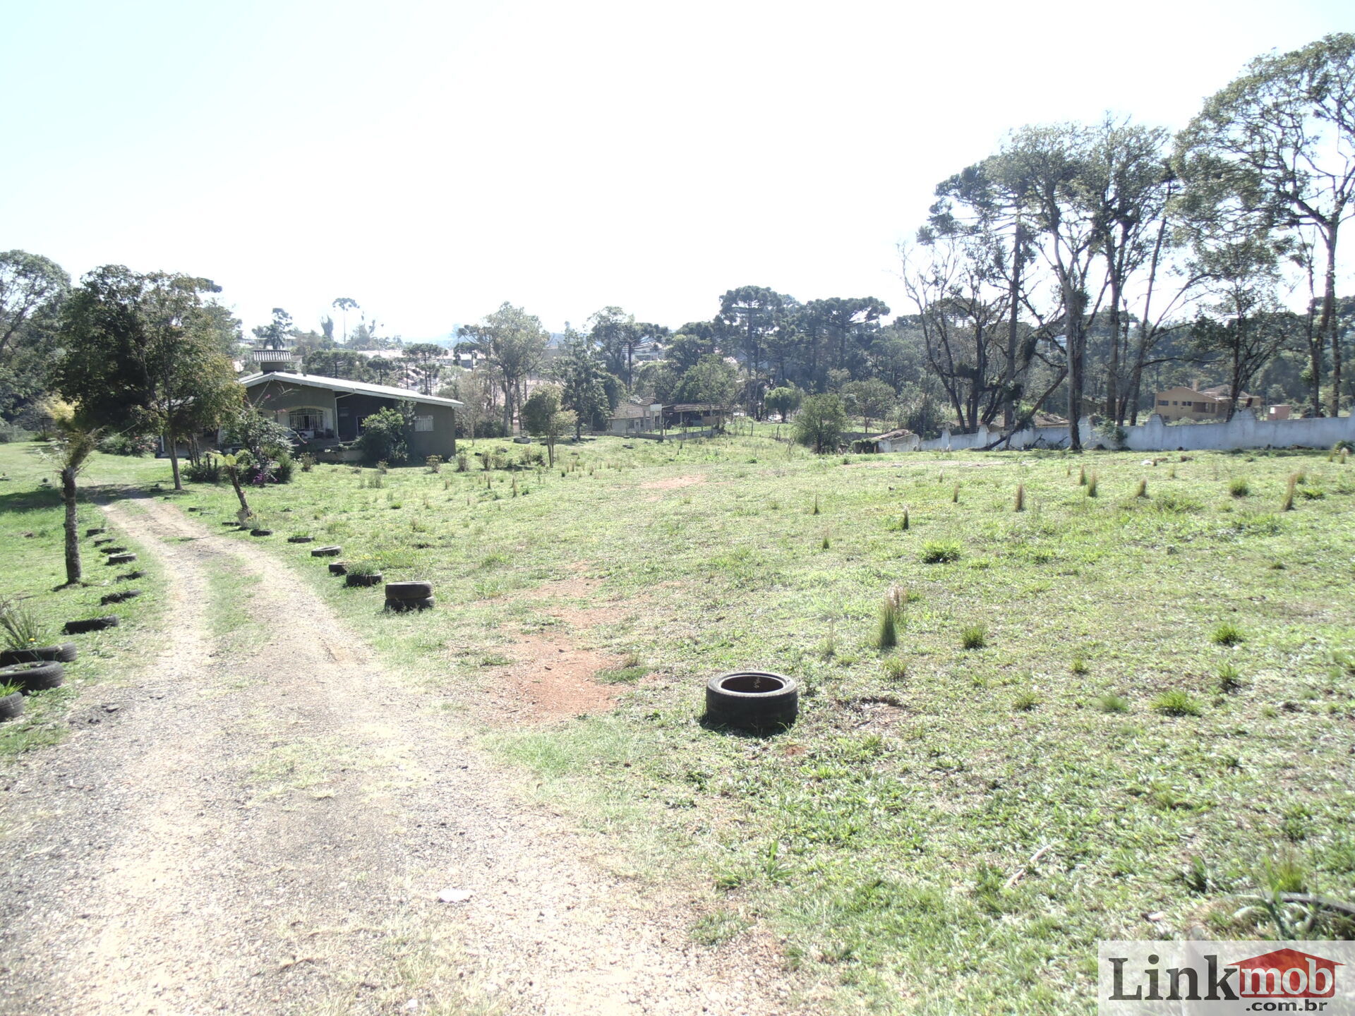
[[[474,450],[495,448],[523,454]],[[1274,937],[1291,929],[1259,893],[1352,898],[1344,458],[814,458],[767,433],[558,454],[298,470],[251,493],[276,531],[253,543],[637,871],[706,879],[698,941],[770,931],[824,1009],[1075,1012],[1098,939]],[[213,526],[237,507],[228,486],[182,503]],[[436,610],[382,614],[293,534],[431,578]],[[606,620],[561,622],[580,597]],[[485,722],[477,703],[542,633],[621,661],[600,675],[615,708]],[[703,727],[705,680],[749,666],[801,681],[799,722]]]

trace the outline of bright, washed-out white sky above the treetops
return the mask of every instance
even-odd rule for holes
[[[350,297],[406,341],[504,301],[676,326],[745,284],[902,313],[898,241],[1008,130],[1175,130],[1252,57],[1355,30],[1348,0],[0,12],[0,249],[207,276],[247,329]]]

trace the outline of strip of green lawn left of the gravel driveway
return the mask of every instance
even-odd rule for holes
[[[103,554],[85,536],[85,530],[104,524],[93,503],[108,496],[164,494],[157,481],[168,478],[169,466],[154,459],[95,454],[81,477],[80,549],[84,566],[81,585],[65,585],[65,558],[61,499],[51,484],[54,475],[38,443],[0,444],[0,600],[11,600],[31,615],[39,627],[39,642],[75,642],[80,656],[64,664],[66,683],[61,688],[27,696],[24,715],[0,723],[0,771],[8,757],[61,741],[66,732],[66,711],[85,684],[118,681],[136,673],[157,648],[163,615],[163,585],[156,564],[140,554],[136,565],[108,566]],[[134,505],[131,507],[134,509]],[[142,550],[108,524],[108,534],[131,550]],[[100,606],[104,593],[130,584],[118,574],[140,569],[145,576],[134,583],[145,595],[112,606]],[[61,626],[73,619],[115,614],[121,625],[83,635],[62,635]]]

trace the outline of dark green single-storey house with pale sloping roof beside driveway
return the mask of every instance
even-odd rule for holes
[[[297,435],[297,451],[312,454],[340,451],[340,446],[358,439],[363,421],[381,409],[398,402],[415,406],[415,429],[409,454],[416,458],[457,454],[455,398],[425,396],[390,385],[327,378],[320,374],[291,374],[271,370],[240,378],[245,397],[264,413]]]

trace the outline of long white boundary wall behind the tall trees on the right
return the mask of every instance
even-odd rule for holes
[[[1089,417],[1079,421],[1083,447],[1108,447],[1096,433]],[[921,440],[916,435],[879,442],[881,451],[965,451],[982,448],[1001,436],[1001,428],[980,427],[977,433],[951,433]],[[1228,423],[1167,424],[1153,413],[1148,423],[1125,428],[1125,446],[1130,451],[1228,451],[1232,448],[1329,448],[1339,440],[1355,442],[1355,416],[1318,417],[1312,420],[1257,420],[1241,410]],[[1066,448],[1068,427],[1027,427],[1016,431],[1004,447]]]

